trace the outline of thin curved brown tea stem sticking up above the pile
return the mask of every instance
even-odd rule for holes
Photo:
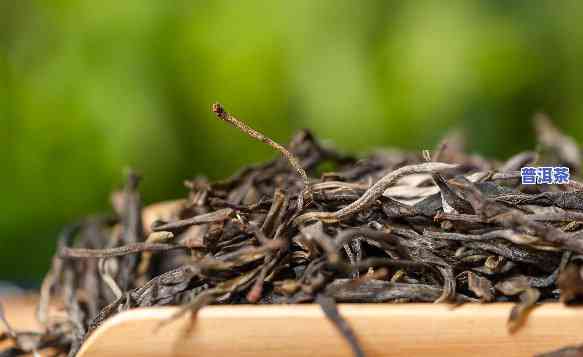
[[[292,154],[289,150],[287,150],[283,145],[276,143],[275,141],[273,141],[269,137],[263,135],[262,133],[258,132],[255,129],[251,128],[249,125],[245,124],[243,121],[235,118],[229,112],[227,112],[225,110],[225,108],[223,108],[223,106],[219,103],[213,104],[212,111],[213,111],[213,113],[215,113],[217,115],[217,118],[233,125],[234,127],[241,130],[245,134],[249,135],[253,139],[259,140],[259,141],[271,146],[275,150],[279,151],[287,159],[287,161],[294,168],[294,170],[296,170],[297,174],[302,178],[302,180],[304,182],[304,190],[309,189],[310,179],[308,177],[308,174],[306,173],[306,170],[304,170],[304,168],[300,164],[300,161],[294,156],[294,154]],[[300,203],[298,204],[298,206],[299,206],[299,208],[301,208],[301,206],[303,206],[303,194],[300,195],[299,200],[300,200]]]

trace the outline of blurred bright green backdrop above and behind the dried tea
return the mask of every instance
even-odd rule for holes
[[[272,158],[228,110],[344,150],[533,144],[544,110],[583,141],[581,1],[0,1],[0,280],[38,281],[59,227]]]

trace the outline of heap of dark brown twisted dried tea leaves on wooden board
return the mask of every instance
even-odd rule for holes
[[[544,116],[537,152],[496,162],[464,153],[455,134],[431,153],[360,159],[308,131],[285,148],[213,112],[282,157],[225,181],[186,181],[185,199],[145,209],[130,174],[115,214],[63,230],[41,289],[44,331],[2,318],[14,347],[0,355],[73,356],[105,319],[138,307],[315,302],[362,356],[337,302],[513,301],[513,331],[535,304],[583,297],[582,160]],[[524,166],[566,166],[571,180],[522,185]]]

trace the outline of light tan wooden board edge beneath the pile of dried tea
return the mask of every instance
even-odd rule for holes
[[[537,307],[514,335],[512,305],[340,305],[368,356],[532,356],[583,343],[583,309]],[[189,332],[188,317],[158,329],[175,308],[124,312],[87,341],[81,357],[351,356],[315,305],[211,306]]]

